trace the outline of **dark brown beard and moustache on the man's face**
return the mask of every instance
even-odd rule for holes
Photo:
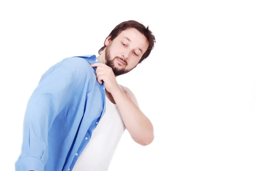
[[[111,42],[112,43],[112,42]],[[127,72],[130,72],[132,69],[130,70],[125,70],[125,68],[122,68],[122,69],[119,69],[117,67],[115,67],[115,59],[118,58],[120,59],[121,61],[125,62],[125,65],[127,66],[127,61],[125,59],[122,59],[118,56],[116,56],[115,58],[113,58],[111,60],[111,55],[110,55],[110,47],[111,47],[111,43],[106,46],[106,50],[105,50],[105,64],[108,65],[108,67],[111,67],[112,70],[113,70],[113,73],[116,75],[116,76],[119,76],[119,75],[123,75]]]

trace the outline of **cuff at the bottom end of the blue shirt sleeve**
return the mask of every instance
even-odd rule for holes
[[[15,162],[15,171],[44,171],[44,166],[40,159],[26,157]]]

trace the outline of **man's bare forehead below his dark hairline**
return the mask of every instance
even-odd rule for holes
[[[126,29],[116,37],[118,39],[124,39],[127,41],[127,38],[130,40],[130,45],[134,48],[141,48],[143,53],[148,49],[148,40],[147,38],[140,33],[137,29],[129,28]]]

